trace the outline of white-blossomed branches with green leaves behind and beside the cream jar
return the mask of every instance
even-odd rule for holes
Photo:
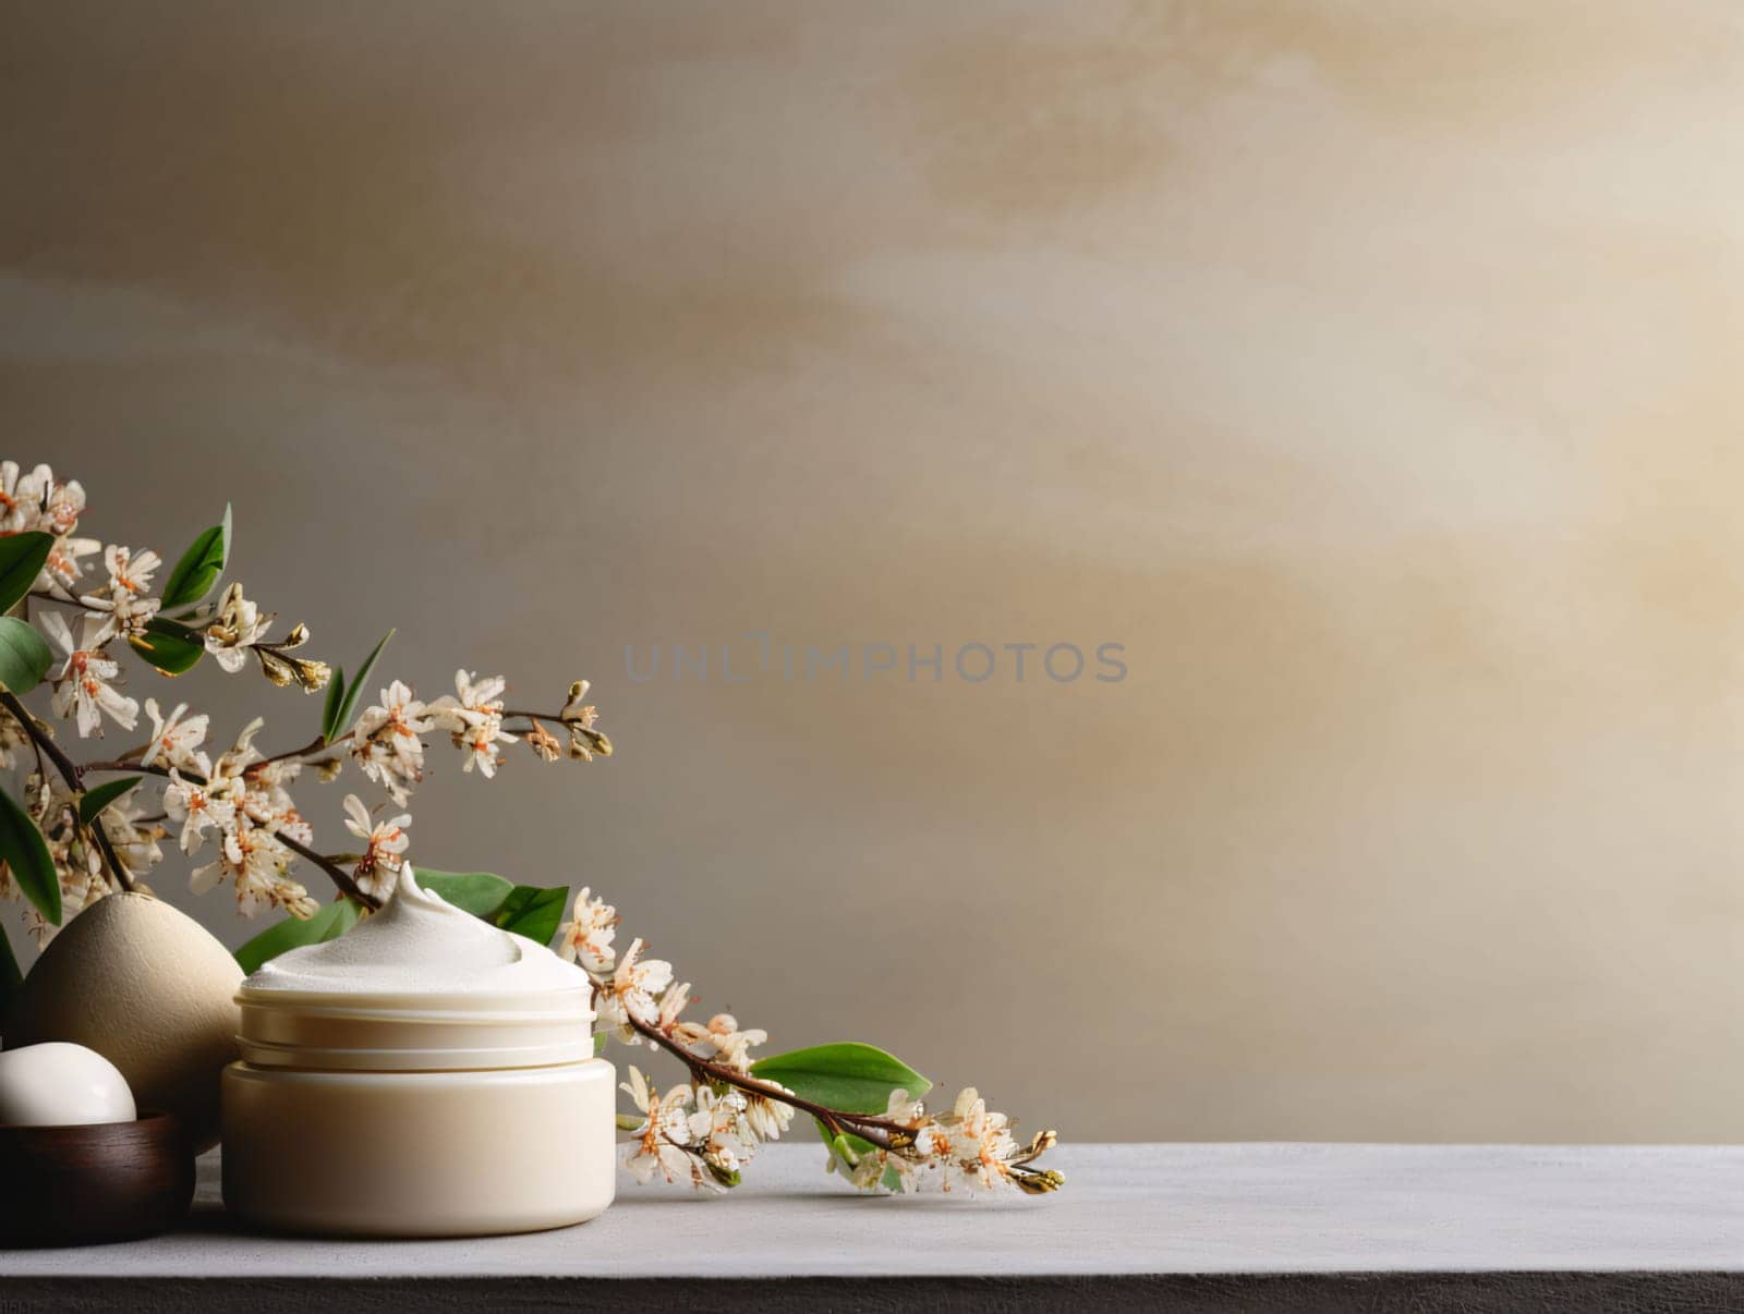
[[[28,924],[38,943],[47,943],[66,915],[117,889],[150,892],[143,877],[162,861],[160,842],[171,828],[185,856],[213,843],[211,861],[188,877],[195,894],[228,884],[242,915],[262,908],[290,915],[267,932],[274,952],[309,943],[328,934],[331,918],[310,920],[321,904],[295,880],[296,863],[317,868],[364,915],[378,910],[405,870],[412,816],[396,809],[424,781],[427,741],[446,735],[462,772],[485,779],[504,767],[509,744],[525,744],[544,763],[612,753],[598,713],[586,702],[584,680],[569,687],[555,713],[506,708],[501,676],[466,669],[455,673],[453,694],[422,701],[399,680],[366,688],[387,638],[349,681],[344,667],[300,655],[307,626],[269,638],[276,617],[262,612],[241,582],[218,591],[230,554],[228,511],[155,587],[164,565],[155,551],[75,537],[84,507],[77,481],[56,479],[47,465],[24,472],[16,462],[0,462],[0,770],[12,770],[12,751],[26,746],[24,765],[33,765],[21,789],[0,791],[12,823],[0,826],[0,899],[31,903]],[[101,575],[87,575],[92,563],[85,558],[96,554]],[[45,685],[51,711],[80,741],[101,739],[108,725],[131,732],[141,704],[124,692],[117,657],[127,652],[164,676],[185,674],[206,659],[227,674],[253,662],[272,685],[326,690],[319,732],[300,748],[267,755],[255,748],[263,725],[256,718],[223,751],[208,749],[206,713],[190,713],[185,702],[166,711],[148,697],[150,735],[143,744],[78,763],[24,695]],[[377,688],[378,701],[366,701]],[[305,767],[326,784],[347,765],[384,800],[371,809],[356,793],[345,795],[344,824],[361,849],[323,852],[291,789],[300,788]],[[87,788],[92,774],[138,779]],[[717,1190],[732,1187],[757,1147],[778,1140],[804,1114],[828,1147],[830,1168],[862,1189],[1013,1187],[1043,1194],[1064,1182],[1034,1166],[1053,1145],[1052,1131],[1018,1143],[1012,1122],[989,1112],[973,1089],[963,1091],[950,1112],[928,1114],[921,1096],[931,1082],[881,1049],[837,1044],[752,1060],[766,1032],[741,1028],[731,1014],[685,1021],[691,986],[673,981],[671,964],[644,957],[640,939],[619,955],[612,948],[617,913],[586,889],[576,896],[570,920],[558,925],[565,889],[429,871],[424,878],[438,894],[443,878],[473,882],[474,896],[485,882],[494,891],[485,899],[490,906],[480,903],[471,911],[541,943],[558,934],[563,955],[593,985],[602,1032],[684,1065],[685,1080],[664,1093],[637,1067],[628,1068],[623,1089],[637,1114],[621,1117],[619,1126],[631,1135],[626,1164],[638,1180],[663,1175]],[[450,894],[467,897],[460,887]]]

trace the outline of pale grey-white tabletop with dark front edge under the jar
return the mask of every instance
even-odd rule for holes
[[[621,1176],[617,1204],[582,1227],[380,1243],[234,1229],[208,1155],[183,1232],[0,1251],[0,1314],[122,1293],[134,1309],[234,1307],[249,1291],[382,1307],[406,1283],[452,1309],[572,1305],[577,1290],[764,1311],[1059,1307],[1069,1293],[1109,1307],[1744,1307],[1744,1148],[1066,1145],[1052,1161],[1067,1175],[1052,1197],[867,1199],[825,1176],[821,1147],[778,1145],[726,1197]]]

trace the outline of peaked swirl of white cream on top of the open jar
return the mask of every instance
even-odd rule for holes
[[[324,945],[263,964],[242,990],[323,995],[528,995],[581,990],[588,974],[419,885],[408,863],[387,906]]]

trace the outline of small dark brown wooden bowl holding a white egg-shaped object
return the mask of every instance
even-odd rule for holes
[[[0,1246],[91,1246],[173,1227],[194,1147],[169,1114],[89,1128],[0,1128]]]

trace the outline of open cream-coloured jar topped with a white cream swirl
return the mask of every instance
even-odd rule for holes
[[[328,1236],[567,1227],[614,1190],[614,1072],[586,974],[399,875],[387,906],[249,976],[223,1199]]]

